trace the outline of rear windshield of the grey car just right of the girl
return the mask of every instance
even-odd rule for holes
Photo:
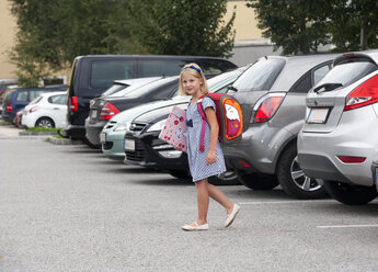
[[[284,59],[263,58],[248,68],[232,84],[238,92],[267,91],[285,66]]]

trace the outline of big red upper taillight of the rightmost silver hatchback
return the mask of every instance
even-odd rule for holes
[[[355,88],[345,98],[344,111],[351,111],[378,102],[378,75]]]

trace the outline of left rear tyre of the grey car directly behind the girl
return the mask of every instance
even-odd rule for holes
[[[272,190],[278,185],[278,180],[272,174],[244,173],[237,171],[240,182],[252,190]]]

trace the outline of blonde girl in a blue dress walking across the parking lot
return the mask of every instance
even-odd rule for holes
[[[202,117],[197,109],[197,101],[208,92],[204,73],[198,65],[185,65],[180,73],[180,94],[191,95],[186,110],[187,123],[187,159],[190,170],[197,189],[198,217],[190,225],[182,226],[183,230],[207,230],[207,211],[209,196],[219,202],[227,212],[225,227],[232,224],[240,207],[233,204],[219,189],[209,184],[207,178],[226,171],[224,154],[218,143],[218,122],[215,104],[210,98],[204,98],[202,105],[206,114],[205,150],[199,151]],[[180,148],[175,147],[180,150]]]

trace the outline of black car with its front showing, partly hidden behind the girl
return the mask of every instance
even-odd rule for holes
[[[220,75],[208,80],[210,92],[225,93],[245,68]],[[181,104],[175,104],[186,110],[190,97]],[[168,170],[173,177],[187,178],[188,166],[185,152],[175,150],[171,145],[159,139],[168,115],[174,105],[148,111],[136,117],[125,133],[125,162],[160,170]],[[210,182],[239,184],[238,177],[232,169],[218,177],[211,177]]]

